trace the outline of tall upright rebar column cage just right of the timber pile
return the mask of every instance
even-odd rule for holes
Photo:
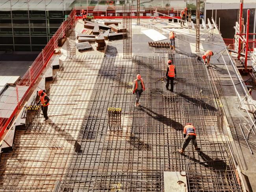
[[[123,53],[124,58],[132,58],[132,6],[131,4],[124,4],[123,12]]]

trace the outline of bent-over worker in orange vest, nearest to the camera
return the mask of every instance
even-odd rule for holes
[[[191,123],[187,123],[187,125],[184,127],[183,136],[185,138],[183,142],[183,146],[180,150],[178,150],[181,154],[184,154],[184,151],[187,145],[189,144],[190,140],[192,140],[195,150],[197,151],[200,150],[200,148],[197,147],[196,128]]]

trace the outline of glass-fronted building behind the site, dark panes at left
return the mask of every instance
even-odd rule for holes
[[[85,9],[96,17],[122,16],[122,5],[129,2],[137,15],[137,0],[0,0],[0,51],[41,51],[65,20],[70,8]],[[158,12],[178,16],[191,8],[195,19],[195,0],[140,0],[140,15]],[[201,14],[204,14],[202,1]],[[160,15],[161,16],[161,15]]]

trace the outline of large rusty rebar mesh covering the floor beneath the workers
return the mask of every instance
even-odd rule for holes
[[[176,94],[161,81],[169,58]],[[146,91],[134,108],[138,73]],[[41,117],[41,131],[17,131],[14,150],[1,158],[0,190],[162,192],[163,171],[186,171],[189,191],[241,191],[214,91],[193,57],[67,59],[48,93],[51,122]],[[122,108],[121,130],[108,129],[108,107]],[[187,122],[197,129],[202,153],[192,144],[185,156],[175,152]]]

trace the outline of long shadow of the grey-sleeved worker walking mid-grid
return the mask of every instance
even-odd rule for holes
[[[152,111],[151,109],[148,109],[147,107],[140,106],[139,109],[141,111],[144,111],[145,113],[147,113],[148,116],[154,118],[155,120],[158,120],[159,122],[161,122],[167,126],[173,127],[174,129],[179,130],[179,131],[183,129],[182,124],[180,124],[179,122],[176,122],[176,121],[172,120],[171,118],[168,118],[166,116],[158,114],[158,113]]]

